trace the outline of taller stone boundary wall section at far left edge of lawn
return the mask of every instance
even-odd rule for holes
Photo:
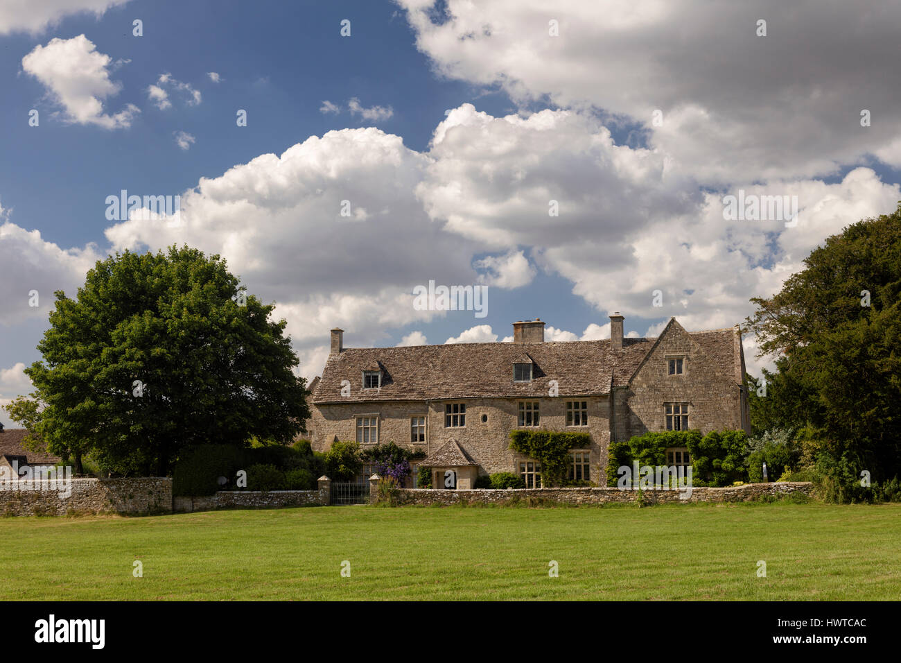
[[[122,513],[143,515],[172,511],[172,480],[165,477],[134,479],[70,479],[71,494],[61,480],[0,485],[0,515],[34,516],[68,513]]]

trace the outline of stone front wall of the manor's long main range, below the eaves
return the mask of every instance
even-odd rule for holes
[[[561,385],[564,386],[565,385]],[[566,396],[527,399],[539,402],[540,428],[551,430],[585,431],[591,435],[591,480],[603,482],[607,464],[607,445],[610,441],[610,404],[606,396],[580,397],[587,401],[588,425],[566,426]],[[519,405],[522,399],[469,399],[466,401],[406,401],[368,403],[329,403],[312,409],[311,444],[316,451],[327,451],[332,441],[356,439],[354,418],[378,417],[380,442],[394,441],[402,447],[421,450],[426,455],[437,451],[451,438],[469,452],[480,466],[482,474],[516,472],[521,456],[510,449],[510,431],[518,428]],[[466,403],[466,426],[444,428],[444,406],[448,402]],[[410,440],[410,418],[426,418],[425,444]],[[483,416],[487,418],[483,421]]]

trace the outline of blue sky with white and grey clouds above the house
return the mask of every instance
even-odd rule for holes
[[[549,339],[603,337],[614,310],[641,336],[669,316],[731,327],[824,237],[901,199],[887,3],[64,5],[0,14],[0,403],[27,391],[52,290],[74,295],[117,249],[223,253],[312,376],[332,326],[347,345],[501,340],[534,317]],[[797,196],[802,223],[724,221],[739,188]],[[181,195],[186,226],[108,220],[121,189]],[[411,311],[429,280],[487,285],[487,317]]]

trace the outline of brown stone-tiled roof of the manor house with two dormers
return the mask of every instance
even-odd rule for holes
[[[721,329],[691,337],[725,370],[736,361],[734,335],[734,329]],[[609,339],[346,348],[329,356],[313,402],[547,396],[551,380],[560,396],[605,395],[628,384],[656,340],[623,338],[622,350],[612,349]],[[514,382],[513,364],[525,355],[533,362],[532,382]],[[384,372],[382,386],[363,389],[362,371],[375,365]],[[341,396],[342,380],[350,382],[350,396]]]

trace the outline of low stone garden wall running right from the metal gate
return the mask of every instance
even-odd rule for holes
[[[642,498],[649,504],[687,502],[753,502],[765,496],[778,497],[789,493],[810,495],[813,485],[807,482],[746,483],[726,488],[693,488],[690,495],[682,491],[642,491]],[[459,504],[460,502],[502,503],[508,500],[537,497],[568,504],[611,504],[635,502],[638,491],[621,491],[618,488],[524,488],[519,490],[469,490],[403,489],[399,492],[402,504]]]

